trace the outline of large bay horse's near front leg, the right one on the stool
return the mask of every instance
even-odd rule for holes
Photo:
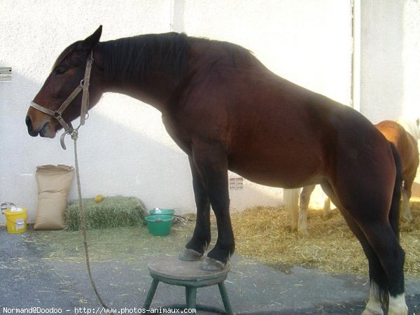
[[[220,270],[235,251],[229,214],[228,156],[218,144],[194,144],[193,162],[207,190],[218,230],[216,245],[207,254],[201,269]]]

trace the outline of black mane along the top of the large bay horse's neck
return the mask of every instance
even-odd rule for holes
[[[188,52],[193,42],[218,43],[232,66],[258,61],[249,50],[223,41],[195,38],[186,34],[146,34],[101,42],[98,50],[104,55],[106,78],[144,77],[151,71],[170,73],[178,78],[186,70]],[[220,56],[214,56],[215,62]]]

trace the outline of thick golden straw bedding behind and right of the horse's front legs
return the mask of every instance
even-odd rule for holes
[[[401,223],[405,274],[420,275],[420,200],[412,202],[412,223]],[[283,208],[255,207],[232,214],[237,253],[288,272],[293,265],[316,267],[323,272],[367,273],[360,243],[338,211],[325,221],[321,209],[309,209],[309,237],[289,228]]]

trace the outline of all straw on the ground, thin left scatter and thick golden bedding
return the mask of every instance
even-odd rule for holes
[[[88,202],[93,203],[90,200]],[[420,200],[412,200],[411,205],[414,221],[401,224],[400,238],[401,246],[405,250],[405,275],[418,278]],[[293,265],[299,265],[318,268],[326,273],[356,273],[365,276],[367,259],[344,218],[338,211],[333,211],[332,218],[326,221],[322,215],[322,210],[309,209],[309,237],[299,237],[296,232],[290,231],[288,215],[283,208],[257,207],[232,214],[236,253],[242,258],[251,258],[242,260],[241,263],[253,263],[253,260],[258,260],[286,273],[290,272]],[[189,219],[188,223],[176,225],[167,237],[151,235],[146,226],[109,229],[106,233],[102,230],[92,230],[92,260],[109,259],[110,256],[136,260],[136,253],[139,252],[147,252],[150,255],[176,255],[183,250],[195,226],[195,214],[184,214],[183,217]],[[212,238],[209,248],[214,246],[217,239],[214,216],[211,221]],[[48,248],[54,251],[48,259],[74,260],[75,253],[80,251],[79,232],[43,231],[34,235],[39,244],[49,244]],[[80,260],[81,257],[82,255]]]

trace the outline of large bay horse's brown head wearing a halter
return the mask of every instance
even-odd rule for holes
[[[80,106],[82,95],[71,100],[69,105],[62,111],[57,110],[62,106],[66,99],[77,90],[83,87],[81,83],[85,77],[86,60],[91,56],[93,49],[99,42],[102,34],[102,26],[84,41],[76,41],[69,45],[57,58],[52,71],[41,90],[36,94],[34,102],[27,112],[26,124],[28,133],[32,137],[38,136],[54,138],[57,130],[62,128],[63,123],[59,123],[57,116],[64,120],[64,124],[80,116]],[[94,73],[92,73],[92,80]],[[80,91],[79,91],[80,92]],[[101,92],[99,88],[91,85],[89,89],[90,99],[94,104],[99,100]],[[67,101],[69,102],[69,101]]]

